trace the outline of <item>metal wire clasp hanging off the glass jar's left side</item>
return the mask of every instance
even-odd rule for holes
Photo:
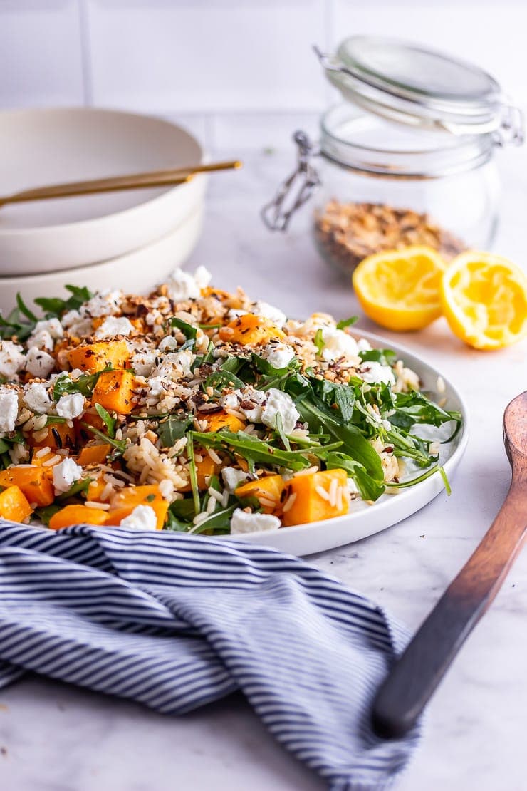
[[[298,164],[291,176],[280,185],[274,198],[263,206],[262,220],[272,231],[286,231],[295,211],[307,202],[321,184],[316,168],[311,164],[311,157],[320,153],[307,134],[296,131],[293,141],[298,146]]]

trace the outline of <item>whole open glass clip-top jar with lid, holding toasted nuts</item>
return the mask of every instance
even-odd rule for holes
[[[356,36],[337,60],[318,55],[347,101],[322,116],[317,145],[295,134],[299,164],[262,210],[267,225],[286,229],[316,191],[315,244],[347,273],[366,255],[410,244],[446,259],[490,248],[495,149],[523,139],[521,114],[497,83],[476,66],[386,39]]]

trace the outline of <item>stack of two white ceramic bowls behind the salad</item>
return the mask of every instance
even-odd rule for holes
[[[0,113],[0,195],[203,161],[168,121],[94,108]],[[62,297],[64,286],[146,293],[190,255],[205,176],[175,187],[7,204],[0,208],[0,310],[17,292]]]

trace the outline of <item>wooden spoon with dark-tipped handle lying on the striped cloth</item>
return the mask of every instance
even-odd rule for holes
[[[461,645],[501,588],[527,528],[527,391],[503,415],[512,481],[498,516],[379,688],[378,736],[404,736],[423,711]]]

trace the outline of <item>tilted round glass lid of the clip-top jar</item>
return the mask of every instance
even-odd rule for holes
[[[375,115],[450,134],[495,133],[500,144],[523,142],[521,111],[479,66],[380,36],[352,36],[334,56],[315,51],[344,99]]]

